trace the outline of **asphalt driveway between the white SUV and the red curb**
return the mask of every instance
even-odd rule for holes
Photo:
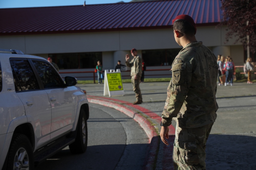
[[[71,154],[66,147],[38,165],[36,170],[143,169],[149,151],[148,137],[131,117],[90,103],[86,153]]]

